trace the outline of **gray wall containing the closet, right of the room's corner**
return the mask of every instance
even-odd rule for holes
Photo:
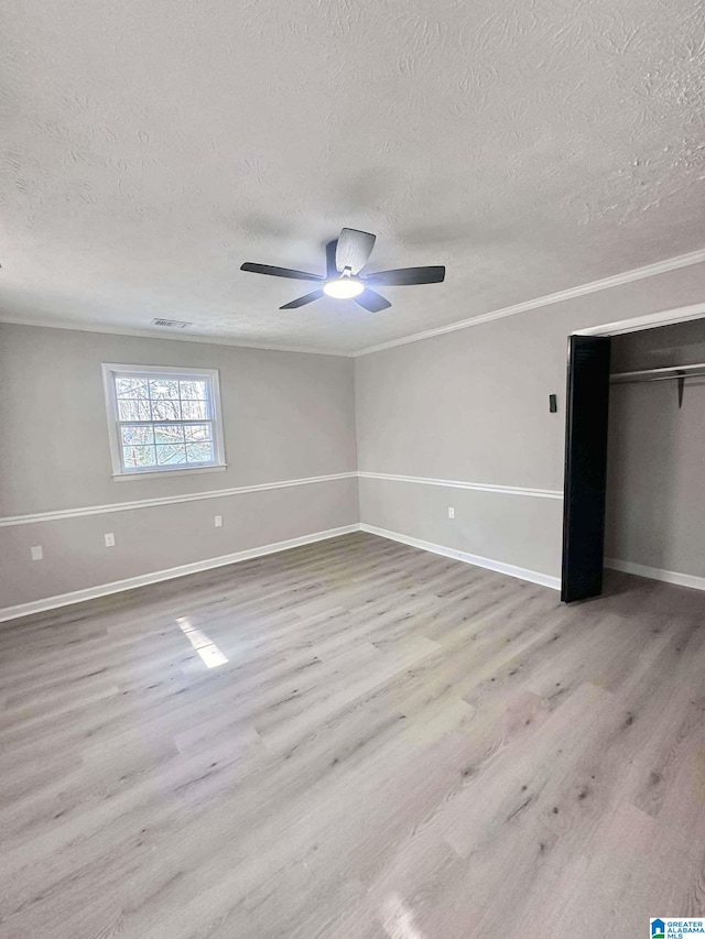
[[[705,265],[698,264],[361,357],[359,469],[560,496],[568,335],[704,298]],[[551,393],[558,396],[557,414],[549,413]],[[360,520],[560,576],[560,499],[364,478]]]

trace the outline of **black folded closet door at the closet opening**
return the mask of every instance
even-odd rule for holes
[[[566,603],[603,592],[609,347],[603,336],[571,336],[561,581]]]

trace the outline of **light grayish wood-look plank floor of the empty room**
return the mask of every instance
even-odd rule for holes
[[[703,914],[704,613],[625,575],[566,608],[355,534],[6,624],[0,937]]]

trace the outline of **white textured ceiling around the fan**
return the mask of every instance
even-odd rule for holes
[[[703,247],[701,0],[10,0],[0,318],[354,350]],[[278,306],[341,226],[393,307]]]

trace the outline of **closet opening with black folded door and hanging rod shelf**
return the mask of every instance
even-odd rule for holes
[[[570,339],[565,602],[605,568],[705,589],[705,318],[644,320]]]

